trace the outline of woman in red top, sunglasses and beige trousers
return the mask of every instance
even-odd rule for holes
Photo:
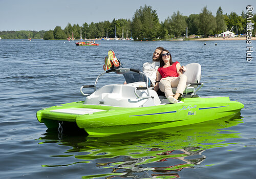
[[[160,67],[154,89],[158,91],[160,88],[170,103],[177,103],[185,90],[187,77],[182,75],[183,71],[186,71],[185,66],[181,66],[178,61],[173,62],[172,55],[164,49],[160,54]],[[173,94],[172,87],[177,87],[176,94]]]

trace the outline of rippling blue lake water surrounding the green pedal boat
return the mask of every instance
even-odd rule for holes
[[[245,41],[98,43],[0,41],[0,178],[255,178],[256,57],[246,61]],[[98,138],[65,131],[60,137],[37,121],[41,108],[84,100],[79,88],[103,72],[109,49],[126,65],[140,65],[159,46],[182,65],[200,63],[198,95],[229,96],[244,104],[241,114]],[[101,84],[113,81],[124,79]]]

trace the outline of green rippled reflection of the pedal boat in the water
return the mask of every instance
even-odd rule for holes
[[[131,177],[136,178],[178,178],[184,168],[197,169],[207,158],[204,151],[225,147],[240,138],[239,133],[228,129],[242,123],[240,113],[204,123],[152,131],[131,132],[108,137],[71,137],[63,131],[63,138],[48,131],[40,143],[61,143],[72,146],[65,153],[70,155],[71,164],[84,163],[87,168],[82,178]],[[59,153],[59,151],[56,151]],[[60,160],[62,155],[54,155]],[[77,162],[73,162],[73,161]],[[55,167],[56,165],[44,165]],[[100,171],[100,172],[99,172]],[[98,174],[101,173],[101,174]],[[104,173],[104,174],[102,174]]]

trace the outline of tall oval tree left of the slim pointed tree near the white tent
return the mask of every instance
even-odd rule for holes
[[[216,20],[212,13],[207,10],[207,6],[202,9],[202,13],[199,14],[199,30],[200,33],[206,35],[213,32],[216,27]]]

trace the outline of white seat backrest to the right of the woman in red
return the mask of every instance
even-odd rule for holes
[[[199,83],[201,79],[201,65],[199,63],[189,63],[186,65],[184,75],[187,76],[187,84]]]

